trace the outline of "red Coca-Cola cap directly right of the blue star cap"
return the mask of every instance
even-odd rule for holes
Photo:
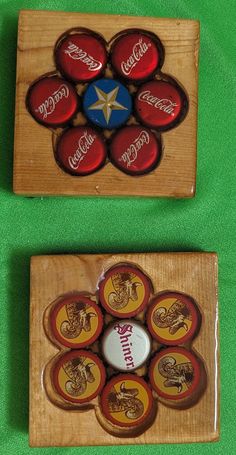
[[[139,88],[135,110],[145,125],[164,131],[183,120],[187,98],[177,84],[155,80]]]

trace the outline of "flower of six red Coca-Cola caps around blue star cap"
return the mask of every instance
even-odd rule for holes
[[[53,131],[55,160],[86,176],[108,160],[132,176],[158,166],[161,132],[188,111],[184,89],[161,73],[164,48],[146,30],[124,30],[109,43],[88,29],[65,32],[54,48],[56,70],[32,83],[26,106]]]

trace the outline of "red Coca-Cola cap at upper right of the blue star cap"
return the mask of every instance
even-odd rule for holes
[[[157,37],[142,31],[122,34],[112,46],[112,66],[130,81],[150,77],[162,64],[163,48]]]

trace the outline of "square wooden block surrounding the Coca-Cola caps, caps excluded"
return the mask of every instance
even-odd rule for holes
[[[189,112],[163,133],[160,165],[142,177],[128,176],[111,163],[87,177],[73,177],[56,164],[52,133],[37,124],[25,107],[29,85],[54,71],[53,47],[67,29],[81,26],[109,41],[127,28],[156,33],[165,47],[162,72],[185,88]],[[196,181],[199,23],[191,20],[108,16],[51,11],[21,11],[18,30],[14,192],[23,195],[138,195],[193,197]]]

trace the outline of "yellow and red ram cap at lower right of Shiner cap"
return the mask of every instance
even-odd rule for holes
[[[200,363],[185,348],[163,349],[151,361],[149,379],[160,397],[174,401],[186,399],[199,386]]]

